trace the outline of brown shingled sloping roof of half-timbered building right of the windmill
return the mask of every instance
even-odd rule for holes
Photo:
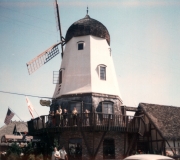
[[[164,138],[180,139],[180,107],[140,103],[138,108],[151,119]]]

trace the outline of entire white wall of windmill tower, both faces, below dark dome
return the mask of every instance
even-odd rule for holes
[[[84,49],[78,50],[77,42],[84,41]],[[103,93],[120,97],[110,46],[95,36],[73,37],[64,50],[60,68],[62,84],[56,85],[54,98],[67,94]],[[99,65],[106,65],[106,80],[100,80]],[[58,91],[59,87],[60,92]]]

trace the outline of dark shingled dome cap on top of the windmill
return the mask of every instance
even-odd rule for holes
[[[99,21],[90,18],[86,15],[83,19],[74,22],[66,33],[66,43],[77,36],[93,35],[100,38],[105,38],[110,45],[110,35],[106,27]]]

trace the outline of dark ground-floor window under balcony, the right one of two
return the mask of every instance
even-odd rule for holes
[[[103,141],[103,159],[115,159],[115,145],[112,138],[105,138]]]

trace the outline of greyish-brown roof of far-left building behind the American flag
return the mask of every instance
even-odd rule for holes
[[[8,135],[13,134],[15,125],[16,125],[17,132],[28,132],[26,122],[12,121],[8,125],[4,125],[3,127],[0,128],[0,143],[1,143],[2,136],[4,136],[5,134],[8,134]]]

